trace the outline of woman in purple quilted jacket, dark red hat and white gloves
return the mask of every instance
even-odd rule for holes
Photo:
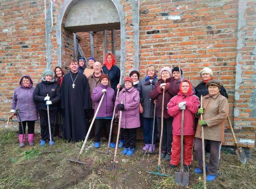
[[[113,88],[109,87],[109,76],[107,74],[102,74],[100,76],[100,86],[94,88],[91,98],[92,101],[95,102],[95,109],[94,114],[99,106],[101,97],[103,93],[105,93],[97,116],[95,118],[95,141],[94,141],[94,148],[100,147],[100,137],[101,137],[101,130],[104,128],[106,138],[109,139],[110,133],[110,125],[111,120],[113,117],[114,111],[114,103],[115,103],[115,91]],[[111,135],[110,139],[110,147],[114,148],[115,143],[112,142],[113,135]]]

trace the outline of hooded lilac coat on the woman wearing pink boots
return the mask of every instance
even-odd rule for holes
[[[28,75],[24,76],[29,77]],[[38,121],[37,107],[35,101],[33,100],[33,92],[35,87],[33,87],[33,81],[29,77],[32,87],[29,89],[22,88],[21,82],[24,76],[22,76],[20,79],[20,87],[16,87],[14,89],[11,109],[19,108],[21,121]],[[18,122],[20,122],[19,117],[16,117]]]

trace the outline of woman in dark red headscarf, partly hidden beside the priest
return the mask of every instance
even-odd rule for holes
[[[54,69],[54,75],[56,77],[56,84],[61,87],[64,71],[57,66]],[[56,122],[55,122],[55,128],[54,128],[54,136],[55,137],[62,137],[63,136],[63,117],[62,117],[62,109],[60,106],[58,106],[57,114],[56,114]]]

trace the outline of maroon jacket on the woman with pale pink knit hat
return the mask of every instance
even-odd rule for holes
[[[157,99],[156,103],[156,116],[162,116],[162,101],[163,101],[163,90],[159,87],[160,84],[164,83],[164,80],[159,79],[156,82],[155,88],[150,92],[150,97],[154,101]],[[167,104],[169,103],[170,99],[177,95],[179,92],[179,83],[174,77],[170,77],[166,80],[165,86],[165,96],[164,96],[164,118],[170,118],[170,115],[167,112]]]

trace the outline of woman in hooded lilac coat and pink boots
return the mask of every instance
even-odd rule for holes
[[[20,86],[14,90],[10,113],[15,116],[15,109],[19,108],[21,118],[21,120],[19,120],[19,117],[17,116],[17,120],[19,122],[19,146],[25,146],[26,124],[28,125],[28,144],[29,146],[34,146],[35,121],[38,121],[37,108],[33,100],[35,87],[33,87],[33,81],[27,75],[22,76],[19,85]],[[24,135],[20,121],[22,121]]]

